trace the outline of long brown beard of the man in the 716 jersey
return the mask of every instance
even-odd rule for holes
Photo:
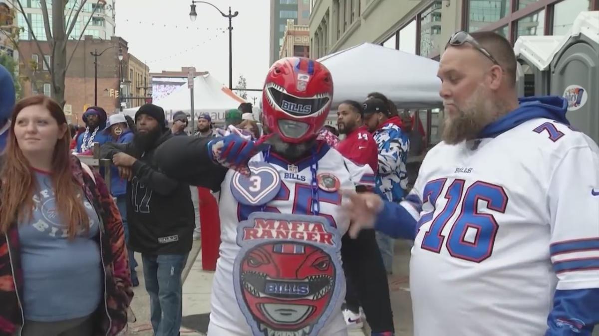
[[[455,116],[446,114],[441,139],[449,145],[456,145],[479,138],[480,131],[498,118],[501,108],[495,105],[486,94],[485,87],[479,85],[464,106],[458,108]]]

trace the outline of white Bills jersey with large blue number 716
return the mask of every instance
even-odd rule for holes
[[[564,124],[442,142],[408,198],[417,336],[543,335],[556,289],[599,288],[599,149]]]

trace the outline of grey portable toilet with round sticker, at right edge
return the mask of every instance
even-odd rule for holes
[[[550,94],[565,97],[572,126],[599,143],[599,11],[579,14],[551,72]]]

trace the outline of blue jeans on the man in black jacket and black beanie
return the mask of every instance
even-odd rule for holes
[[[150,295],[150,321],[155,336],[179,335],[183,313],[181,274],[187,255],[189,253],[141,255],[146,291]]]

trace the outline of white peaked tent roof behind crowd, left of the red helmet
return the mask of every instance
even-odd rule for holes
[[[193,79],[193,111],[196,116],[208,113],[213,122],[225,121],[225,111],[237,108],[244,102],[246,101],[210,74],[198,75]],[[191,115],[191,95],[187,85],[181,85],[168,96],[153,103],[164,109],[167,120],[171,120],[171,116],[177,111]],[[138,109],[139,107],[125,109],[123,113],[133,117]]]

